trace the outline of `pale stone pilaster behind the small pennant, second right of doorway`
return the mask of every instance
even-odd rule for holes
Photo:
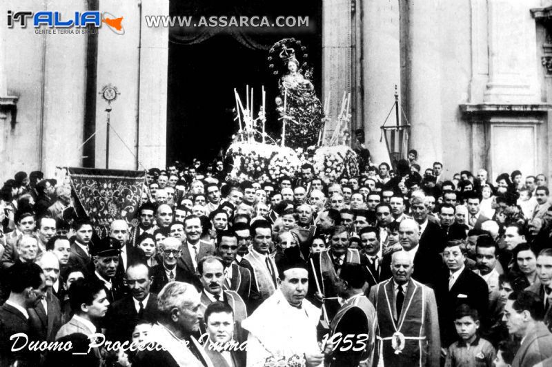
[[[385,139],[380,142],[380,127],[395,103],[395,85],[400,86],[399,2],[364,1],[362,6],[364,135],[377,165],[389,162]],[[395,125],[395,112],[386,125]]]

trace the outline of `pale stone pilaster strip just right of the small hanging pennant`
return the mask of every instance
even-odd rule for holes
[[[442,3],[440,0],[408,0],[406,104],[412,125],[410,148],[418,151],[422,170],[431,167],[435,160],[442,161],[444,149],[439,20],[440,8],[448,2]]]

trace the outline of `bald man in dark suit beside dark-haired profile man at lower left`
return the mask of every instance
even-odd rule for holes
[[[54,342],[59,328],[61,328],[61,305],[52,293],[52,285],[59,278],[59,261],[52,252],[43,253],[37,262],[46,277],[46,297],[37,306],[29,308],[30,327],[37,339]]]

